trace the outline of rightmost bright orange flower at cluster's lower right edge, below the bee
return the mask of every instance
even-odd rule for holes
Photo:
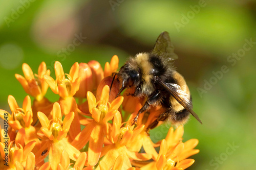
[[[140,169],[173,170],[185,169],[191,166],[195,160],[186,158],[199,152],[199,150],[194,150],[198,144],[198,140],[190,139],[185,143],[181,142],[183,132],[183,126],[179,126],[175,132],[173,128],[170,128],[166,138],[161,141],[157,159],[140,167]],[[139,165],[138,162],[136,163]]]

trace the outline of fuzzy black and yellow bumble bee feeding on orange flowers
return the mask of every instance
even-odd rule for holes
[[[151,106],[161,106],[164,111],[147,129],[155,128],[159,121],[168,119],[172,125],[186,123],[191,113],[201,124],[198,115],[192,110],[191,96],[184,78],[175,70],[173,61],[178,56],[167,32],[159,35],[151,53],[139,53],[130,57],[120,68],[117,80],[121,88],[133,89],[131,94],[146,101],[134,118],[136,124],[140,113]]]

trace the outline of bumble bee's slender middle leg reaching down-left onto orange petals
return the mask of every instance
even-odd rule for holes
[[[145,104],[142,106],[142,108],[138,111],[136,117],[134,117],[133,119],[133,124],[135,125],[137,123],[138,117],[140,115],[140,113],[143,113],[144,111],[146,111],[148,108],[150,108],[151,105],[153,105],[154,103],[156,103],[159,99],[161,99],[161,91],[158,90],[156,92],[154,92],[153,94],[151,94],[151,96],[149,96],[147,98],[147,101],[145,102]]]

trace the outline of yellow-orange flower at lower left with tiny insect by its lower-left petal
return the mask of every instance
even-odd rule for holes
[[[67,114],[62,121],[60,106],[55,102],[52,110],[53,119],[48,120],[47,116],[42,112],[38,112],[37,114],[42,126],[40,129],[41,132],[38,132],[38,135],[43,139],[42,143],[44,143],[41,149],[35,153],[37,163],[44,159],[41,153],[46,148],[49,149],[49,161],[52,169],[57,168],[63,150],[68,152],[72,160],[77,160],[80,152],[66,138],[74,118],[74,112]]]

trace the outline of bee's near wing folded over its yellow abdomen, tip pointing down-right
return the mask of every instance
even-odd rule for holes
[[[189,100],[189,96],[187,93],[185,93],[181,87],[178,84],[175,83],[166,83],[159,79],[157,79],[158,82],[176,99],[181,106],[183,106],[186,110],[188,110],[197,120],[198,122],[201,122],[198,115],[192,110],[192,104]]]

